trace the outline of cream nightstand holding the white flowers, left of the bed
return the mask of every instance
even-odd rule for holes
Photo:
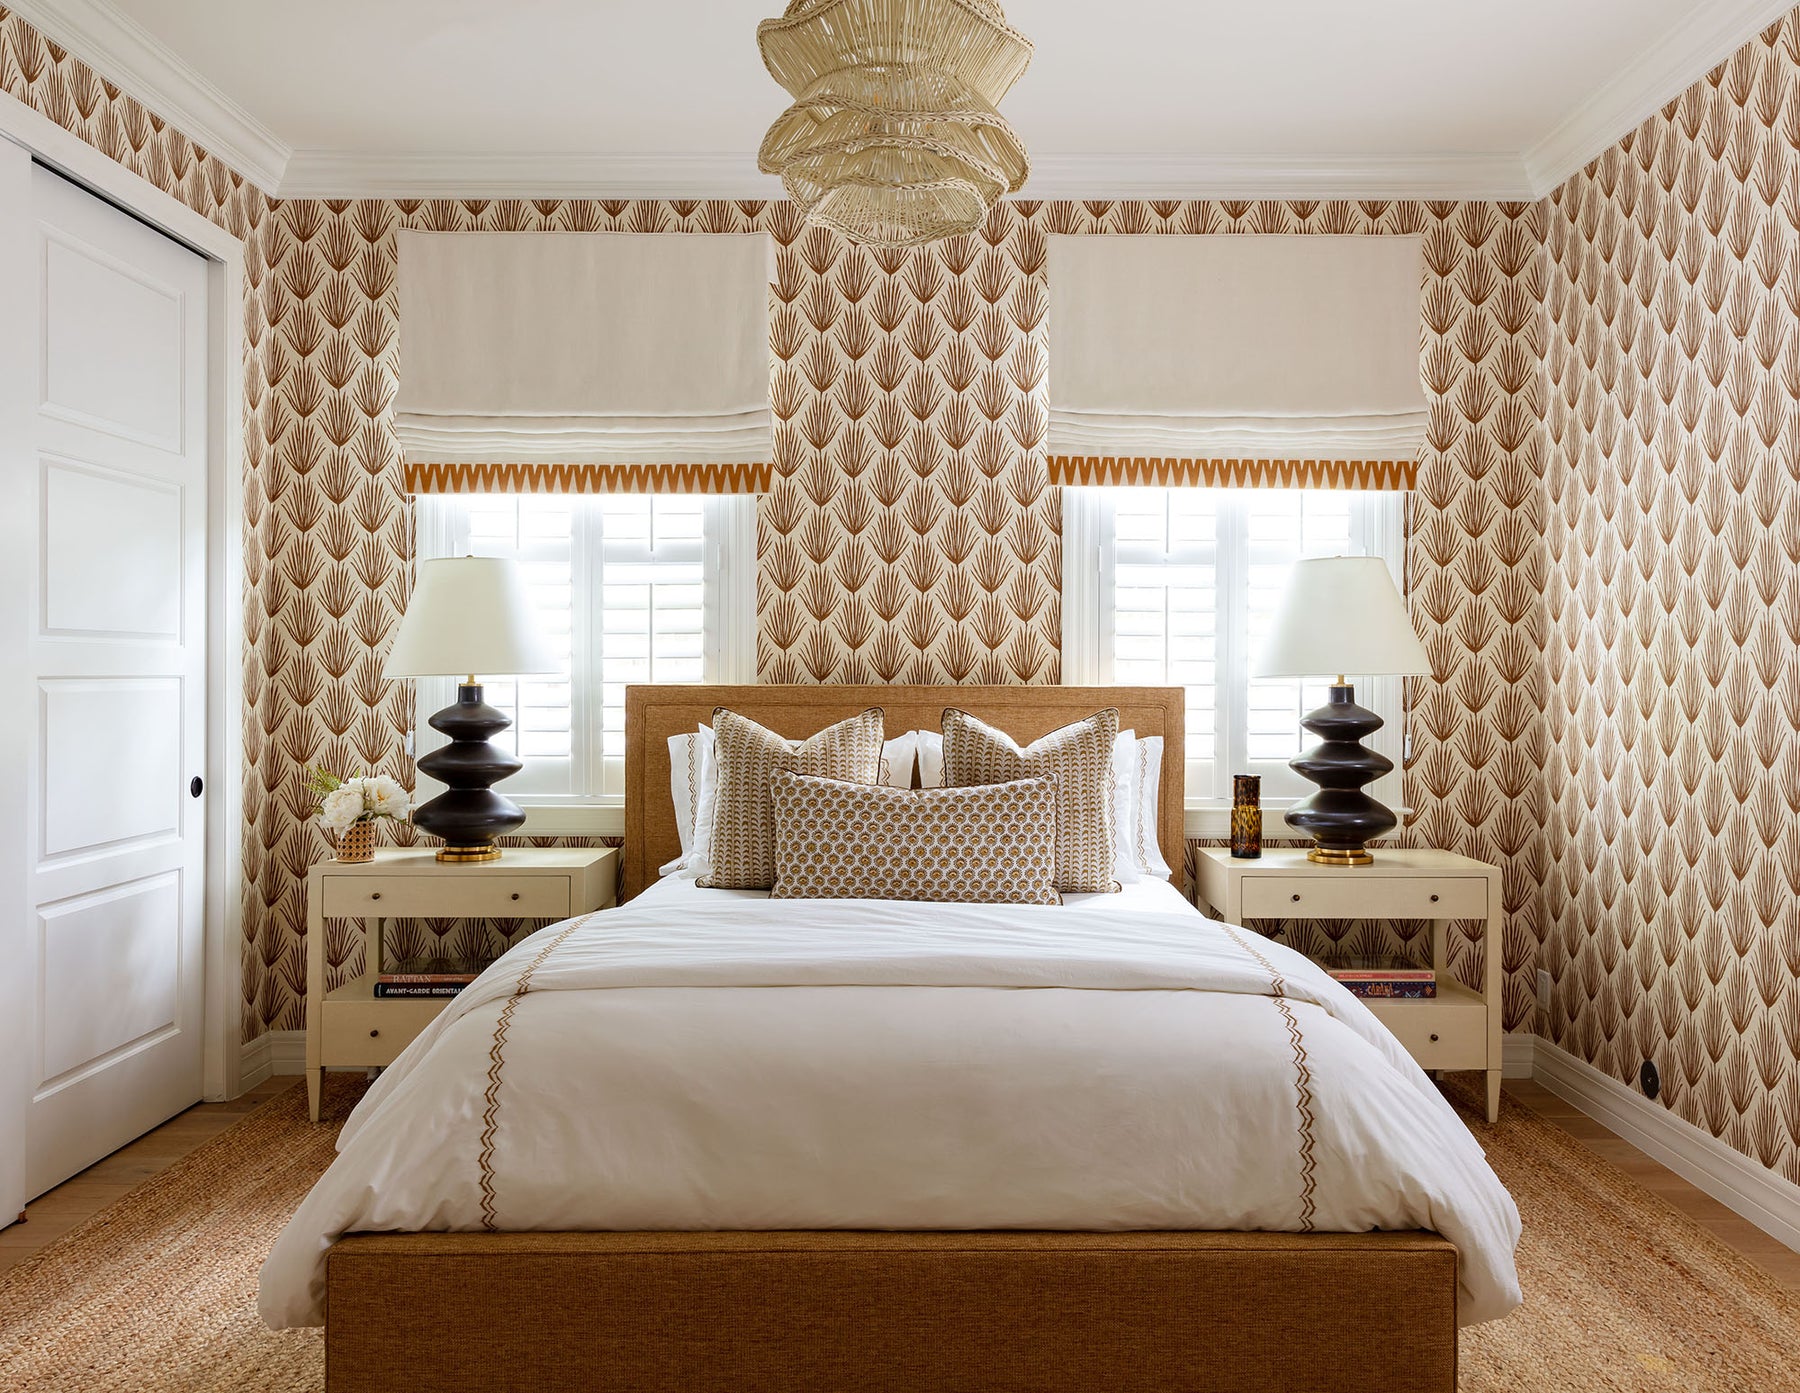
[[[320,1074],[392,1064],[448,1001],[374,995],[387,920],[567,920],[617,903],[616,846],[506,848],[499,860],[452,866],[430,848],[387,848],[374,860],[322,860],[306,873],[306,1098],[319,1121]],[[326,992],[326,920],[374,920],[369,970]]]

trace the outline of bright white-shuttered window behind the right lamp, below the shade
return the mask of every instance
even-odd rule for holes
[[[1066,488],[1064,680],[1188,689],[1188,806],[1224,806],[1233,774],[1267,803],[1312,785],[1287,761],[1328,682],[1251,680],[1289,567],[1303,556],[1382,556],[1400,574],[1404,493]],[[1085,562],[1085,563],[1084,563]],[[1386,718],[1368,743],[1395,763],[1399,679],[1363,679]],[[1372,788],[1399,803],[1397,776]]]

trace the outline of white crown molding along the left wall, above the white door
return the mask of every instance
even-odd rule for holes
[[[135,20],[104,0],[5,0],[5,5],[263,193],[277,191],[288,144]]]

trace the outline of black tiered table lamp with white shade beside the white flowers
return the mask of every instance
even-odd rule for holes
[[[419,759],[445,792],[412,812],[412,824],[443,837],[437,860],[497,860],[497,837],[526,824],[524,808],[493,792],[524,765],[490,743],[513,722],[481,696],[475,673],[524,677],[560,671],[538,632],[517,562],[455,556],[419,562],[412,601],[400,621],[382,677],[464,677],[455,704],[430,718],[450,743]]]

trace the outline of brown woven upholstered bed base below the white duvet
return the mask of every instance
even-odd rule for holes
[[[1454,1393],[1431,1233],[403,1233],[328,1393]]]

